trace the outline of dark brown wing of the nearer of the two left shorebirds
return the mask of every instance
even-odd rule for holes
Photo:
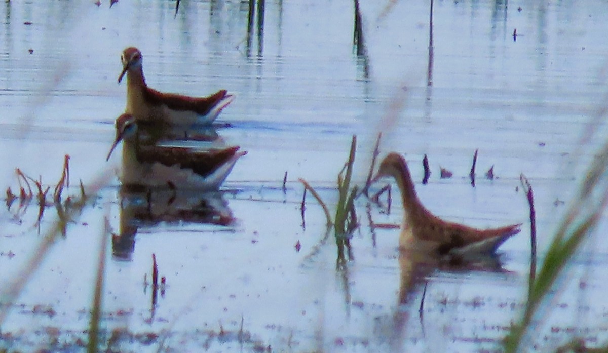
[[[161,163],[166,166],[180,165],[196,174],[207,176],[226,163],[237,153],[239,146],[209,151],[193,151],[185,147],[140,146],[137,160],[143,163]]]

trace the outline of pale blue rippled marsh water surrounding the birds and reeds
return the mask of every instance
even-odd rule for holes
[[[174,3],[165,1],[121,0],[112,8],[6,2],[0,186],[16,187],[16,167],[53,185],[64,154],[71,156],[72,185],[119,167],[117,157],[106,163],[105,156],[112,123],[125,105],[125,85],[116,80],[127,46],[142,50],[152,87],[193,95],[226,88],[237,95],[218,120],[230,126],[219,126],[218,134],[249,154],[223,193],[204,199],[235,218],[229,225],[195,217],[167,222],[173,216],[153,222],[151,213],[165,211],[148,210],[145,199],[126,205],[143,204],[140,213],[121,213],[119,183],[112,179],[27,281],[2,325],[0,349],[80,349],[104,219],[120,233],[134,214],[140,218],[134,243],[120,255],[108,251],[102,326],[106,340],[115,332],[114,349],[500,349],[527,293],[530,230],[520,173],[534,188],[542,259],[605,140],[601,123],[587,141],[581,136],[606,108],[607,6],[435,2],[429,85],[426,2],[362,2],[365,55],[353,47],[354,7],[347,0],[266,1],[263,28],[255,24],[250,42],[246,2],[182,1],[176,16]],[[380,130],[381,153],[406,154],[416,180],[423,177],[423,155],[429,157],[430,181],[416,187],[434,213],[479,227],[523,222],[522,233],[501,248],[499,269],[429,273],[426,289],[419,286],[408,304],[399,304],[399,231],[372,231],[370,219],[399,224],[401,207],[395,203],[386,214],[362,199],[361,227],[351,240],[354,260],[336,269],[333,235],[319,245],[325,218],[310,196],[302,224],[297,178],[318,187],[333,208],[351,135],[359,136],[356,182],[363,182]],[[499,178],[483,179],[492,165]],[[440,179],[440,167],[454,177]],[[78,188],[64,193],[78,194]],[[153,197],[160,208],[163,196]],[[184,209],[201,207],[201,197],[185,195],[179,202]],[[2,287],[54,222],[54,208],[38,227],[36,205],[17,206],[0,213]],[[146,211],[150,219],[142,216]],[[526,342],[531,350],[573,337],[590,346],[606,343],[606,229],[603,218],[599,236],[573,261],[571,281],[562,281],[559,295],[546,304],[550,314]],[[110,240],[106,246],[112,247]],[[151,308],[144,275],[149,282],[153,253],[167,287]]]

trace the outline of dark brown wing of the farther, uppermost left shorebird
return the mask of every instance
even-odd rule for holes
[[[187,97],[174,93],[161,93],[151,88],[146,89],[144,92],[145,100],[153,105],[166,105],[167,108],[174,111],[193,111],[200,115],[207,114],[228,94],[225,89],[209,97]]]

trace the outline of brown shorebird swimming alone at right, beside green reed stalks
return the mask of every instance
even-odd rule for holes
[[[406,160],[397,153],[390,153],[382,160],[375,180],[383,176],[393,177],[401,193],[404,214],[400,248],[440,256],[491,255],[520,231],[521,224],[477,229],[444,221],[430,213],[416,195]]]

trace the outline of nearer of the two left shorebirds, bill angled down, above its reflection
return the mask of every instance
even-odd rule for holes
[[[139,143],[137,120],[131,114],[116,119],[116,139],[108,153],[123,142],[123,185],[217,190],[246,152],[238,146],[195,149]]]

